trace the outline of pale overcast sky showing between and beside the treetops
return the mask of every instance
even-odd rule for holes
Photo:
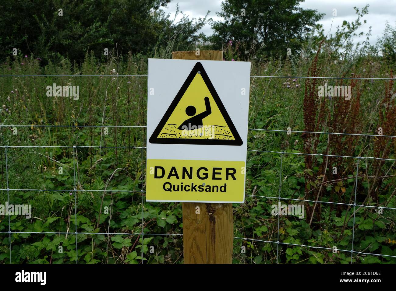
[[[266,0],[263,0],[266,1]],[[183,11],[190,18],[204,17],[206,12],[210,10],[209,17],[213,20],[221,20],[216,15],[217,11],[221,11],[222,0],[172,0],[168,4],[168,7],[164,10],[171,13],[171,17],[175,15],[176,5],[179,4],[180,10]],[[385,23],[388,21],[392,26],[396,22],[396,0],[305,0],[301,3],[301,7],[308,9],[318,10],[320,13],[326,13],[320,24],[326,34],[329,32],[331,22],[333,21],[331,32],[335,31],[337,26],[341,26],[343,20],[354,21],[356,19],[354,6],[363,8],[366,4],[369,4],[369,13],[364,16],[363,19],[367,20],[366,24],[363,24],[358,32],[363,31],[364,35],[355,42],[362,42],[365,40],[365,34],[368,32],[371,26],[372,32],[370,37],[370,43],[374,44],[378,37],[380,37],[385,29]],[[333,20],[333,9],[337,9],[337,16]],[[178,20],[178,19],[177,19]],[[363,21],[362,21],[363,23]],[[212,34],[210,25],[207,24],[202,29],[206,35]]]

